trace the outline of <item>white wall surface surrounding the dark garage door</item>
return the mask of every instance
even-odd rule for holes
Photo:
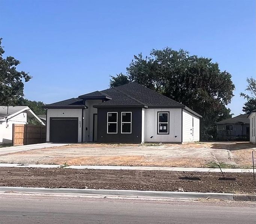
[[[78,118],[78,142],[81,142],[82,134],[82,109],[47,109],[47,128],[46,128],[46,141],[50,141],[50,118],[60,117]]]

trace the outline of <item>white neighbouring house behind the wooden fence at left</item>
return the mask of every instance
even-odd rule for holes
[[[27,124],[27,118],[45,125],[28,106],[0,106],[0,144],[12,143],[12,125]]]

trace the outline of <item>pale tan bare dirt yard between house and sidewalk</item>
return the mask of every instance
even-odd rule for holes
[[[225,168],[251,168],[248,142],[193,144],[70,144],[0,155],[0,163],[59,165],[123,165],[156,167],[216,167],[210,152]]]

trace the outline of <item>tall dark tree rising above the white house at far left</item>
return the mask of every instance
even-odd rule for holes
[[[17,71],[16,66],[21,62],[12,56],[3,58],[4,50],[0,38],[0,104],[15,105],[18,99],[24,96],[24,83],[32,77],[24,71]]]

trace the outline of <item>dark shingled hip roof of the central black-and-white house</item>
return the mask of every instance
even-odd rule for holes
[[[187,108],[185,105],[178,103],[169,97],[163,96],[156,91],[150,90],[143,85],[132,82],[118,87],[109,88],[102,91],[79,96],[77,99],[81,105],[83,99],[105,99],[104,102],[94,105],[95,108],[102,107],[142,107],[142,108],[184,108],[190,113],[202,117],[198,113]],[[69,99],[71,100],[71,99]],[[45,108],[57,108],[66,104],[66,108],[71,108],[72,104],[68,100],[46,105]]]

